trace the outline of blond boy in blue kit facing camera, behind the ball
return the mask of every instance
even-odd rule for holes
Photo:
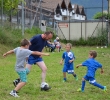
[[[76,80],[78,80],[77,75],[74,73],[74,65],[73,61],[75,60],[75,56],[73,52],[71,52],[72,45],[70,43],[66,44],[66,51],[62,55],[62,60],[60,61],[60,64],[63,64],[64,61],[64,67],[63,67],[63,82],[66,82],[66,72],[68,74],[72,74]]]

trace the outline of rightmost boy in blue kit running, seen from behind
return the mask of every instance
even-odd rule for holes
[[[98,88],[101,88],[104,91],[107,90],[106,86],[100,85],[95,80],[95,72],[98,68],[101,68],[101,73],[103,73],[102,65],[98,61],[95,60],[96,57],[97,57],[97,52],[94,50],[91,50],[89,52],[89,58],[86,61],[84,61],[82,64],[79,64],[76,66],[76,68],[78,68],[79,66],[87,67],[87,73],[82,79],[82,87],[79,88],[77,91],[84,92],[86,81],[89,81],[90,84],[92,84]]]

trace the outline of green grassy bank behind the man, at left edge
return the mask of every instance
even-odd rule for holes
[[[21,39],[30,39],[35,34],[42,31],[39,28],[26,29],[24,36],[21,29],[11,29],[11,27],[0,27],[0,43],[8,46],[19,46]]]

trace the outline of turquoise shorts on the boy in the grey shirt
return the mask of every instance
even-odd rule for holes
[[[27,74],[29,73],[29,69],[26,68],[24,71],[18,71],[17,72],[21,82],[27,82]]]

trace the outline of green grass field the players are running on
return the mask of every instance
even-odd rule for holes
[[[7,50],[9,48],[1,48],[0,55],[2,56]],[[86,82],[84,93],[77,92],[77,89],[81,87],[81,80],[86,73],[86,67],[77,69],[75,66],[88,58],[89,50],[98,52],[96,59],[103,65],[104,73],[101,74],[100,69],[97,70],[96,80],[107,86],[107,92],[90,85],[88,82]],[[10,91],[14,89],[12,81],[18,77],[14,70],[15,55],[9,55],[6,58],[0,57],[0,100],[110,100],[110,48],[73,47],[72,51],[76,56],[74,69],[78,75],[78,81],[72,75],[67,74],[68,81],[63,83],[63,66],[59,64],[63,51],[50,53],[50,56],[43,58],[48,67],[46,82],[52,87],[51,90],[40,91],[41,70],[38,66],[33,65],[28,75],[28,83],[18,93],[20,98],[9,95]]]

